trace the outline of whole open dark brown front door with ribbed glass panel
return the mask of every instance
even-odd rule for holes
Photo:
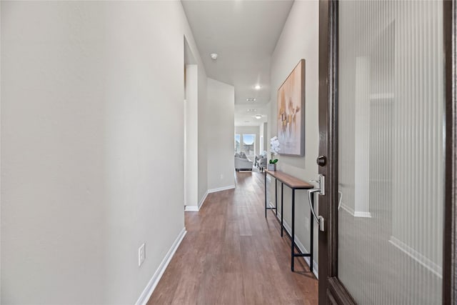
[[[320,2],[319,304],[456,302],[455,12]]]

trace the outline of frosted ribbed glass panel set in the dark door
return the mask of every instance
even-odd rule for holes
[[[441,304],[443,3],[338,19],[338,278],[358,304]]]

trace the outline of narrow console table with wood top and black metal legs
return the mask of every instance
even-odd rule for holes
[[[275,179],[275,204],[276,206],[267,206],[266,204],[266,175],[270,175]],[[292,189],[292,232],[291,232],[291,270],[293,271],[293,259],[296,256],[309,256],[309,269],[313,271],[313,215],[311,214],[310,216],[310,233],[311,233],[311,239],[310,239],[310,253],[295,253],[295,248],[298,247],[295,244],[295,191],[297,189],[313,189],[312,184],[308,184],[308,182],[300,180],[294,176],[288,175],[284,173],[283,171],[268,171],[268,169],[265,169],[265,218],[266,218],[266,210],[268,209],[274,209],[276,210],[276,218],[278,217],[278,184],[277,181],[281,182],[281,236],[283,236],[283,186],[286,184],[289,188]],[[314,206],[313,200],[311,202],[311,205]],[[278,219],[279,220],[279,219]]]

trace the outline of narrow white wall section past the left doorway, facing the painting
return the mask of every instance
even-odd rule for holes
[[[207,80],[208,86],[208,189],[234,187],[233,126],[235,89]]]

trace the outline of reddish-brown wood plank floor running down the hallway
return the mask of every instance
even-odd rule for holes
[[[263,174],[236,173],[236,189],[209,194],[186,212],[187,234],[148,304],[318,304],[318,281],[302,258],[290,266]]]

